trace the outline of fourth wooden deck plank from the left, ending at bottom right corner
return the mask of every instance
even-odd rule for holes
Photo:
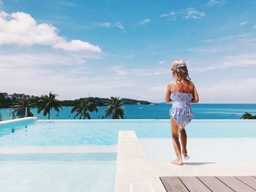
[[[240,180],[235,177],[217,177],[223,183],[228,185],[233,191],[236,192],[255,192],[254,189],[250,188],[246,184],[242,183]]]

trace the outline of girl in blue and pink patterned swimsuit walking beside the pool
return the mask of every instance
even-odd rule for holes
[[[177,155],[177,159],[171,161],[172,164],[183,165],[181,157],[189,158],[187,155],[187,134],[185,127],[194,117],[192,111],[192,104],[199,101],[198,93],[194,83],[189,78],[187,71],[187,64],[183,60],[176,60],[173,62],[170,69],[173,74],[175,82],[169,82],[165,93],[165,102],[173,103],[170,109],[170,125],[173,137],[173,147]],[[178,131],[181,133],[181,145],[178,141]]]

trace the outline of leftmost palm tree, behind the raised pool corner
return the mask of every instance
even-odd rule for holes
[[[29,99],[19,99],[15,104],[13,104],[11,107],[14,109],[12,112],[12,118],[13,116],[18,118],[26,118],[26,117],[33,117],[33,113],[31,112],[30,107],[33,107],[34,104],[29,102]]]

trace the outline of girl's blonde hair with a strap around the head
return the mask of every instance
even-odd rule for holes
[[[170,70],[173,72],[173,75],[174,74],[177,75],[178,79],[176,80],[176,82],[181,79],[191,81],[189,77],[189,72],[187,70],[186,61],[184,60],[173,61],[173,65]]]

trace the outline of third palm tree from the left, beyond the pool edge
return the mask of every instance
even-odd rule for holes
[[[71,112],[76,112],[74,119],[79,116],[79,119],[91,119],[89,112],[98,111],[97,105],[89,101],[88,98],[80,98],[75,101],[75,106],[72,108]]]

